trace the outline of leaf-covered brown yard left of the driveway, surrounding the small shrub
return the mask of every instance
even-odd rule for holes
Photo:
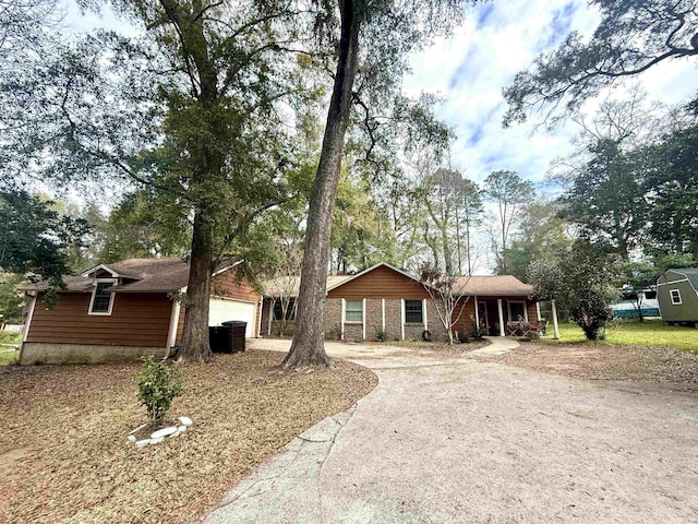
[[[248,352],[182,369],[170,415],[190,431],[136,449],[137,364],[4,367],[0,372],[0,522],[191,522],[304,429],[351,406],[377,379],[337,361],[278,371]]]

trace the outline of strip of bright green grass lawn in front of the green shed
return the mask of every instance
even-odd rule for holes
[[[553,332],[552,323],[549,324],[547,333]],[[550,338],[545,342],[557,343]],[[562,343],[587,343],[581,329],[574,323],[559,324],[559,342]],[[606,340],[600,343],[589,344],[612,344],[615,346],[663,346],[683,349],[698,355],[698,329],[681,327],[677,325],[663,325],[660,320],[618,320],[606,327]]]

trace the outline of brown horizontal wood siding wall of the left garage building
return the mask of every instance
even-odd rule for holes
[[[61,293],[51,309],[39,294],[27,342],[164,347],[172,301],[166,294],[116,294],[110,315],[87,314],[89,293]]]

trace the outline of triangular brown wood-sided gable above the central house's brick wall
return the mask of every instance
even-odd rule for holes
[[[327,294],[328,298],[406,298],[417,300],[429,298],[424,287],[411,278],[380,266],[363,276],[354,278]]]

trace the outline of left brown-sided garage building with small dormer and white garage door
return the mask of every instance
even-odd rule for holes
[[[224,263],[213,273],[208,324],[242,320],[246,336],[257,336],[261,295],[237,277],[239,264]],[[63,282],[52,307],[46,302],[46,283],[23,287],[32,300],[21,364],[161,357],[180,343],[189,262],[130,259]]]

